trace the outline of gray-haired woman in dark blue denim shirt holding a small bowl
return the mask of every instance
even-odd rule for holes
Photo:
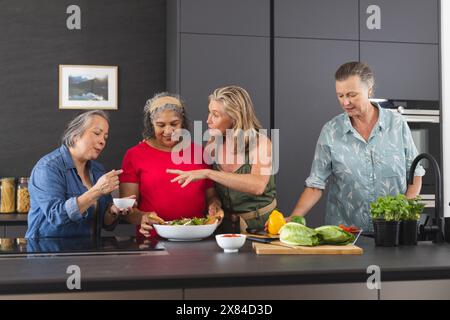
[[[27,238],[85,237],[115,226],[120,211],[110,193],[119,187],[121,170],[105,174],[94,160],[108,139],[104,111],[88,111],[73,119],[62,146],[41,158],[31,172]]]

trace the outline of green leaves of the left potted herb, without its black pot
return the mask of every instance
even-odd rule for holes
[[[373,219],[399,221],[409,214],[409,202],[403,194],[384,196],[370,204]]]

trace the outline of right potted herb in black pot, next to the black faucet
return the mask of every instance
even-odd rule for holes
[[[416,245],[417,244],[417,221],[420,214],[425,208],[425,204],[421,203],[419,196],[414,199],[408,199],[408,212],[400,217],[400,244]]]

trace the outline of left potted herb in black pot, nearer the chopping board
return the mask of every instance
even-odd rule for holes
[[[408,199],[402,194],[380,197],[370,204],[375,245],[393,247],[399,244],[400,217],[408,213]]]

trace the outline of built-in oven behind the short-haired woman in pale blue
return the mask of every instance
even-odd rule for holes
[[[381,107],[388,108],[393,112],[403,115],[411,129],[412,138],[416,148],[421,153],[431,154],[442,168],[442,141],[441,141],[441,116],[439,101],[400,101],[384,100],[377,101]],[[425,170],[433,170],[429,167],[428,160],[421,162]],[[425,174],[422,180],[421,197],[426,204],[424,213],[434,214],[435,199],[435,177],[433,172]],[[424,219],[426,216],[424,216]]]

